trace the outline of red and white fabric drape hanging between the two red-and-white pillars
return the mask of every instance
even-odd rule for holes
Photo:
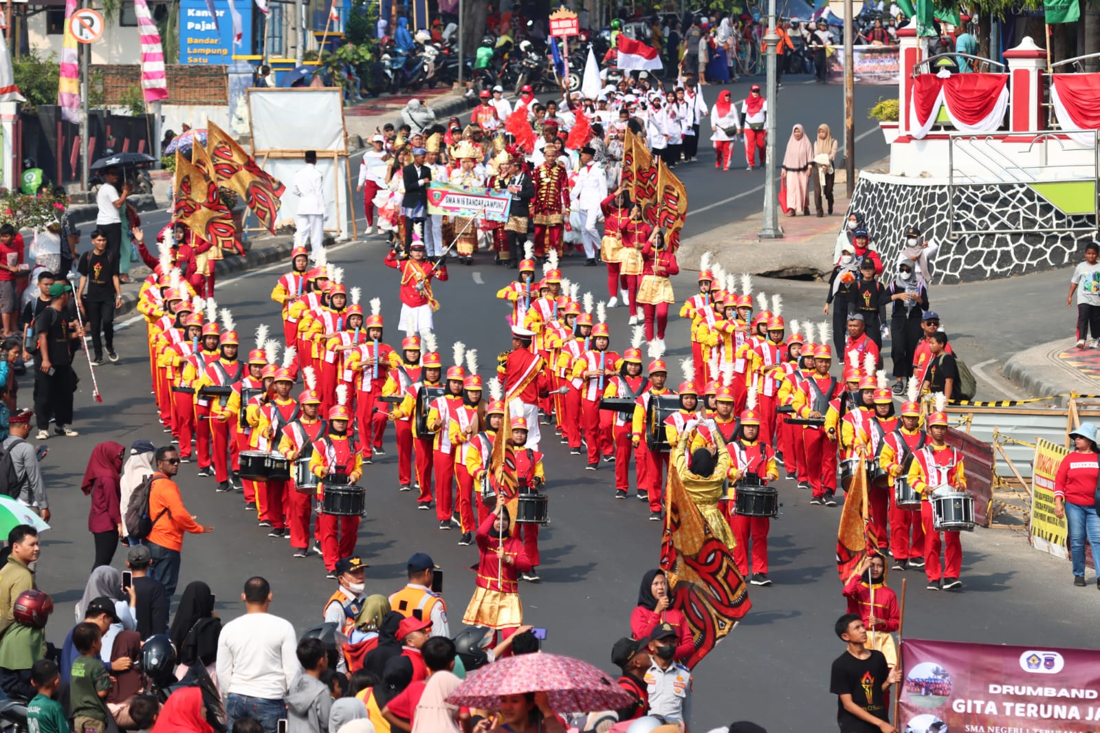
[[[921,140],[936,122],[939,108],[956,130],[992,132],[1009,109],[1008,74],[922,74],[913,79],[911,134]]]

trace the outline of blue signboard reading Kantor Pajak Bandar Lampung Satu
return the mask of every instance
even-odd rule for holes
[[[218,14],[210,17],[209,6]],[[233,54],[252,53],[252,0],[234,0],[241,14],[241,40],[233,43],[233,15],[229,0],[180,0],[179,63],[231,64]]]

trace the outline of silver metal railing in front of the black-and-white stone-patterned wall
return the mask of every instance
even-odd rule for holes
[[[1084,133],[1092,133],[1092,150],[1088,156],[1088,163],[1048,163],[1047,147],[1053,142],[1058,146],[1059,152],[1066,151],[1066,142],[1062,133],[1052,130],[1034,130],[1028,132],[1016,132],[1014,136],[1032,135],[1027,147],[1014,152],[1010,157],[1003,150],[1001,142],[992,134],[976,135],[969,132],[949,133],[947,138],[947,207],[948,227],[947,234],[952,239],[963,236],[978,234],[1002,234],[1007,232],[1085,232],[1100,231],[1100,196],[1098,196],[1098,185],[1100,185],[1100,131],[1086,130]],[[1028,154],[1035,145],[1042,145],[1038,151],[1040,161],[1037,164],[1027,165],[1020,162],[1027,160]],[[1074,150],[1079,151],[1075,146]],[[1080,151],[1079,151],[1080,152]],[[1082,156],[1084,157],[1084,156]],[[989,171],[988,178],[967,173],[960,169],[960,162],[969,162]],[[1074,169],[1078,175],[1074,177],[1058,177],[1059,171]],[[981,200],[980,188],[998,185],[1034,185],[1044,183],[1066,183],[1068,180],[1090,180],[1092,182],[1092,212],[1091,226],[1078,227],[1034,227],[1026,226],[1026,219],[1037,219],[1038,215],[1022,207],[1015,210],[1003,210],[990,206]],[[958,200],[956,200],[958,196]],[[1003,225],[993,229],[967,229],[960,227],[960,217],[957,215],[959,205],[965,200],[971,200],[975,206],[985,209],[986,218],[990,222]]]

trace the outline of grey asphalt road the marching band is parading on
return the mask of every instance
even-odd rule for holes
[[[817,95],[835,90],[807,85],[805,95],[802,91],[789,81],[783,94],[798,102],[789,108],[823,109],[824,99]],[[871,89],[869,96],[876,94],[878,90]],[[793,119],[793,114],[787,119]],[[696,200],[705,201],[706,196],[713,201],[723,198],[723,192],[711,190],[716,188],[710,179],[712,171],[701,164],[681,167],[693,207]],[[749,174],[726,175],[730,183],[725,197],[745,190],[738,185],[751,188],[739,184]],[[739,216],[737,211],[743,208],[751,210],[758,201],[755,196],[745,196],[711,211],[721,214],[726,221]],[[689,220],[691,228],[697,223]],[[384,243],[374,238],[339,245],[330,251],[329,259],[346,269],[345,283],[361,286],[364,300],[376,295],[383,298],[386,337],[393,343],[399,338],[397,280],[394,271],[383,266],[384,254]],[[584,269],[581,264],[576,258],[565,260],[563,274],[579,282],[582,293],[592,291],[600,299],[606,282],[603,269]],[[283,266],[275,266],[218,284],[218,300],[233,309],[244,337],[242,346],[250,344],[258,324],[277,326],[277,308],[268,294],[282,272]],[[441,350],[446,357],[451,342],[462,340],[468,348],[479,350],[482,371],[488,375],[495,354],[509,346],[506,308],[494,299],[494,294],[514,271],[479,262],[470,267],[452,265],[450,273],[450,282],[437,287],[442,304],[436,314]],[[1013,283],[1009,281],[1003,287],[1013,288]],[[686,297],[693,284],[693,273],[678,277],[678,297]],[[822,287],[796,282],[758,284],[758,289],[784,294],[789,317],[815,320]],[[1024,300],[1012,303],[1020,308],[1030,306]],[[964,315],[968,307],[959,302],[950,313],[960,319],[974,318]],[[617,308],[609,314],[613,348],[622,348],[628,340],[627,313]],[[44,470],[54,527],[43,535],[38,582],[58,604],[48,628],[50,639],[58,644],[70,625],[73,604],[80,598],[90,570],[88,500],[78,486],[91,448],[101,440],[128,445],[139,438],[167,441],[156,423],[148,391],[144,326],[134,318],[129,321],[117,338],[122,360],[98,372],[103,404],[91,401],[90,381],[86,368],[80,366],[78,371],[85,379],[77,394],[74,427],[81,435],[47,442],[51,453]],[[981,331],[970,332],[979,340]],[[686,324],[673,318],[667,341],[669,357],[674,360],[688,353]],[[986,341],[985,335],[980,341]],[[24,402],[30,400],[29,380],[24,381],[22,394]],[[392,430],[387,431],[386,442],[387,455],[367,468],[362,482],[367,490],[370,516],[362,524],[356,550],[371,565],[367,591],[393,592],[404,582],[408,556],[427,551],[446,570],[444,597],[455,630],[473,591],[473,573],[466,568],[476,561],[476,550],[459,547],[457,532],[439,530],[433,513],[417,512],[415,495],[398,493]],[[629,632],[639,579],[658,561],[660,526],[647,521],[648,508],[641,502],[613,499],[609,464],[587,472],[583,460],[569,456],[556,440],[546,440],[542,448],[547,453],[552,524],[540,535],[543,581],[521,587],[525,620],[548,627],[547,650],[582,657],[613,671],[610,646]],[[195,472],[194,463],[180,471],[184,501],[199,522],[213,524],[216,532],[186,538],[180,589],[190,580],[206,580],[218,597],[219,614],[231,619],[243,611],[239,599],[244,580],[262,575],[274,589],[273,613],[289,619],[299,630],[317,623],[333,589],[333,582],[324,579],[320,558],[292,558],[285,539],[268,538],[266,529],[256,526],[255,514],[243,511],[240,494],[216,494],[212,480],[199,479]],[[772,524],[770,537],[774,586],[750,590],[752,611],[697,667],[692,730],[705,731],[738,719],[755,720],[772,731],[835,730],[832,721],[836,703],[828,694],[828,670],[833,658],[843,650],[832,631],[833,622],[845,611],[834,561],[840,510],[811,506],[809,493],[796,490],[793,482],[781,482],[780,490],[783,515]],[[120,550],[116,566],[121,567],[123,561]],[[910,579],[906,636],[1074,647],[1096,647],[1100,643],[1094,624],[1087,621],[1094,613],[1096,588],[1074,589],[1066,562],[1031,549],[1026,538],[1013,532],[979,529],[964,537],[961,592],[927,591],[923,575],[915,572],[891,576],[891,586],[898,591],[901,577]]]

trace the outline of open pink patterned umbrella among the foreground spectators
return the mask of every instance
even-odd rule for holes
[[[501,696],[524,692],[546,692],[560,712],[617,710],[631,702],[615,680],[587,661],[544,652],[497,659],[471,672],[447,701],[496,710]]]

